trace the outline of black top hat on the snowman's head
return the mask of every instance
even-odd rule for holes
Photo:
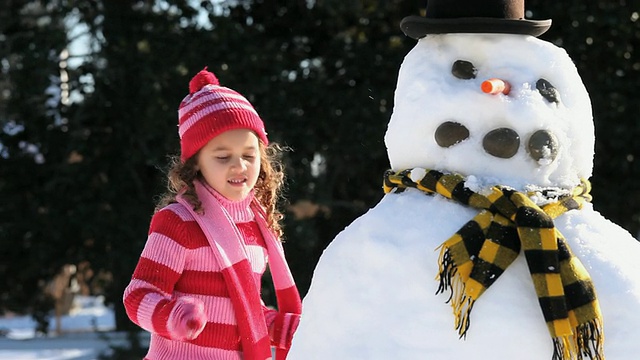
[[[551,20],[524,19],[524,0],[428,0],[425,17],[412,15],[400,22],[414,39],[443,33],[540,36],[550,26]]]

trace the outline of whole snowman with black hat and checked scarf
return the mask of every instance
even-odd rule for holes
[[[640,243],[590,203],[594,126],[523,0],[401,22],[383,199],[322,254],[289,359],[636,359]]]

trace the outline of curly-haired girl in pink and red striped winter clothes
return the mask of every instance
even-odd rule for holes
[[[249,101],[206,68],[178,110],[180,158],[123,296],[145,359],[284,359],[301,312],[279,241],[283,173]],[[269,270],[279,311],[260,298]]]

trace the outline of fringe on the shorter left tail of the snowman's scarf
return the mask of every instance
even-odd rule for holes
[[[446,303],[451,303],[455,318],[454,327],[461,339],[466,338],[467,330],[471,325],[471,310],[473,310],[475,300],[465,294],[465,283],[462,275],[458,272],[458,268],[453,262],[451,252],[444,246],[440,249],[439,264],[438,279],[440,285],[436,295],[449,290],[449,298]]]

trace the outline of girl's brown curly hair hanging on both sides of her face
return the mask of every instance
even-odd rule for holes
[[[280,221],[283,215],[278,210],[277,204],[284,185],[284,166],[281,161],[283,148],[275,143],[268,146],[265,146],[262,141],[258,141],[258,143],[260,173],[254,186],[255,197],[265,209],[267,225],[280,239],[282,237]],[[198,199],[194,185],[195,180],[204,180],[202,174],[196,170],[198,155],[199,153],[196,153],[184,163],[180,160],[180,156],[170,158],[167,172],[167,191],[160,197],[156,205],[156,212],[175,203],[176,196],[182,189],[186,189],[183,196],[193,205],[193,209],[196,212],[202,212],[202,203]]]

